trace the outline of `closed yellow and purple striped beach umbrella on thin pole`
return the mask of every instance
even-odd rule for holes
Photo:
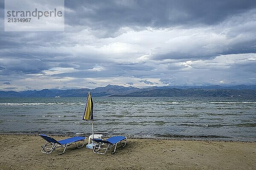
[[[93,99],[90,94],[90,91],[88,92],[87,96],[87,102],[84,109],[84,116],[83,120],[92,120],[92,130],[93,130]]]

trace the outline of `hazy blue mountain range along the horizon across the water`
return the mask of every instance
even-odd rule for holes
[[[80,88],[70,90],[44,89],[41,91],[0,91],[0,98],[16,97],[86,97],[88,91],[92,96],[241,96],[256,97],[256,85],[236,85],[224,87],[220,85],[212,86],[163,86],[150,88],[124,87],[119,85],[107,85],[95,89]]]

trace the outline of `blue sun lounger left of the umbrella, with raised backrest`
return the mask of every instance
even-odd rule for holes
[[[44,134],[39,134],[39,136],[41,136],[44,140],[46,140],[46,143],[44,144],[44,146],[42,146],[42,153],[51,153],[53,150],[55,150],[58,147],[65,147],[63,152],[65,152],[66,147],[72,143],[79,142],[79,141],[84,141],[85,142],[85,137],[82,136],[75,136],[73,138],[68,138],[68,139],[63,139],[63,140],[59,140],[56,141],[55,139],[53,139],[52,137],[48,136],[48,135],[44,135]],[[51,147],[48,147],[51,146]],[[81,147],[84,146],[84,143]],[[78,145],[76,144],[76,147],[78,147]],[[78,147],[80,148],[80,147]],[[61,153],[61,154],[62,154]]]

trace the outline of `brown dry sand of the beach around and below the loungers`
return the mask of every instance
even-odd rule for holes
[[[55,139],[67,137],[54,136]],[[255,142],[207,142],[128,139],[115,154],[93,153],[73,144],[64,154],[41,153],[44,139],[0,135],[0,170],[251,170],[256,169]]]

